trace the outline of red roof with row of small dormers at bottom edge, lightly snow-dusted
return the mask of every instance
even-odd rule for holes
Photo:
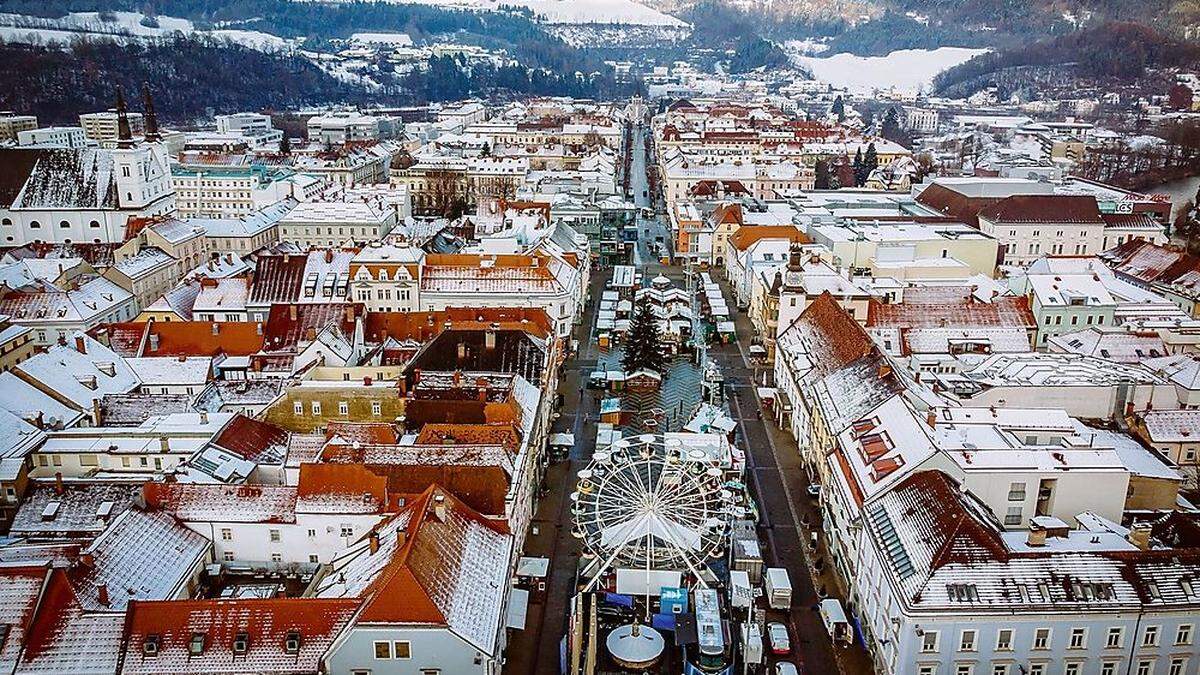
[[[350,622],[356,599],[254,598],[130,603],[122,634],[122,675],[167,673],[317,673]],[[203,635],[199,655],[190,646]],[[296,637],[298,650],[287,641]],[[234,641],[245,639],[245,651]],[[146,640],[157,652],[146,656]]]

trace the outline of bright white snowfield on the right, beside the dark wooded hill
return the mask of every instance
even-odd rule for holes
[[[940,47],[937,49],[901,49],[887,56],[797,56],[796,60],[812,71],[812,77],[834,86],[869,94],[875,89],[919,91],[929,89],[934,76],[971,60],[988,49]]]

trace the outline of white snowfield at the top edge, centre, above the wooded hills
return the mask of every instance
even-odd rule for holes
[[[340,0],[347,1],[347,0]],[[528,7],[552,24],[629,24],[685,26],[686,23],[636,0],[386,0],[460,10]]]

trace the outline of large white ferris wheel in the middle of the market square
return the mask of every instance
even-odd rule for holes
[[[652,434],[595,453],[571,500],[574,533],[601,572],[617,566],[702,575],[740,510],[725,472],[707,459],[678,438]]]

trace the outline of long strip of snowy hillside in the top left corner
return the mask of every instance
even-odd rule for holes
[[[43,19],[23,14],[0,13],[0,37],[8,42],[68,43],[83,38],[151,40],[175,34],[205,35],[229,40],[252,49],[275,50],[287,46],[282,37],[257,30],[197,30],[192,22],[175,17],[157,17],[158,26],[142,25],[139,12],[112,12],[113,20],[102,20],[96,12],[72,12],[62,18]]]

